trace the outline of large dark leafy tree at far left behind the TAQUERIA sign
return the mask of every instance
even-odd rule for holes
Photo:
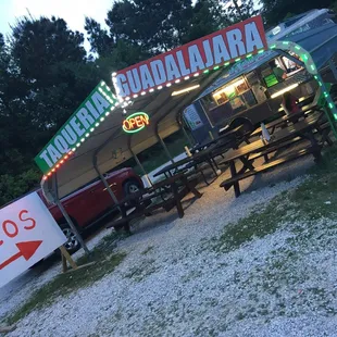
[[[83,41],[55,17],[23,17],[0,36],[0,204],[38,183],[34,157],[99,82]]]

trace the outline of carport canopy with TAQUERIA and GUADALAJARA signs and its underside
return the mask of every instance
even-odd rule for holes
[[[112,74],[117,97],[100,83],[35,158],[43,180],[57,174],[62,198],[150,148],[179,129],[183,110],[230,63],[266,49],[254,16]],[[145,120],[129,134],[122,126],[134,113]]]

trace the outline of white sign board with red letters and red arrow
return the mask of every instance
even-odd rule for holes
[[[33,192],[0,210],[0,287],[66,242],[66,237]]]

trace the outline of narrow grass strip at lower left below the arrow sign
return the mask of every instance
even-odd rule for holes
[[[91,251],[90,258],[85,255],[76,261],[78,265],[88,262],[95,262],[95,264],[58,275],[53,280],[35,291],[23,307],[7,319],[7,322],[12,325],[29,314],[33,310],[49,305],[58,297],[65,296],[79,288],[88,287],[103,276],[112,273],[125,258],[125,253],[111,253],[118,239],[121,239],[121,236],[115,233],[104,237]]]

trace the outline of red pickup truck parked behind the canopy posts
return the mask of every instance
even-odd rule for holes
[[[143,188],[141,178],[132,168],[122,168],[108,173],[105,174],[105,179],[117,200]],[[79,242],[73,230],[67,225],[59,208],[49,203],[43,197],[41,190],[38,190],[38,195],[48,207],[64,235],[67,237],[67,242],[64,245],[65,248],[68,252],[76,251],[79,248]],[[109,191],[101,180],[96,180],[79,188],[71,195],[62,198],[61,202],[79,232],[83,232],[84,228],[96,224],[109,215],[114,204]]]

